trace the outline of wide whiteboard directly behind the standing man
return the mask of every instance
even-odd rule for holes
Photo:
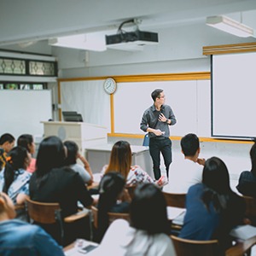
[[[114,94],[114,131],[116,133],[144,134],[140,123],[144,110],[154,102],[151,92],[162,89],[166,104],[170,105],[177,119],[171,125],[171,136],[195,133],[210,137],[210,81],[183,80],[119,83]]]

